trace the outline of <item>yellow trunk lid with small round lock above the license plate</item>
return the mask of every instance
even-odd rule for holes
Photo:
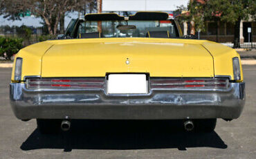
[[[64,40],[42,58],[42,77],[104,77],[107,73],[214,77],[214,66],[201,44],[146,38]]]

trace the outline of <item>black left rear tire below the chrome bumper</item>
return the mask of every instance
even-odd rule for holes
[[[61,120],[37,119],[37,129],[40,133],[58,133],[60,131]]]

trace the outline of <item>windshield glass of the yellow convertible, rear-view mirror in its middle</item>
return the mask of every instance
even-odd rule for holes
[[[133,26],[122,28],[118,26]],[[169,32],[170,37],[179,37],[173,20],[168,21],[84,21],[80,23],[77,37],[81,34],[100,32],[102,37],[146,37],[147,32]]]

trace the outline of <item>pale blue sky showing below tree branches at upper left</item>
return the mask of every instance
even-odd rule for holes
[[[66,17],[65,17],[65,27],[68,26],[69,21],[71,21],[72,18],[77,18],[77,12],[72,12],[69,13]],[[22,25],[26,25],[26,26],[34,26],[34,27],[39,27],[42,26],[42,24],[40,24],[40,22],[42,22],[41,18],[37,18],[37,17],[23,17],[21,18],[21,21],[8,21],[8,19],[4,19],[3,16],[0,16],[0,26],[5,26],[5,25],[9,25],[9,26],[22,26]]]

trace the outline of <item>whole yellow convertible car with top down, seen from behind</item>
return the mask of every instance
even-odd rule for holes
[[[43,133],[75,119],[183,120],[188,131],[213,131],[245,103],[239,54],[183,38],[165,12],[73,19],[64,39],[28,46],[14,64],[12,110]]]

